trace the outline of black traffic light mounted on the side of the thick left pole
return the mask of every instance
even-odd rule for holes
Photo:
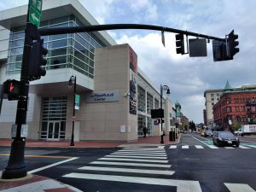
[[[48,49],[44,48],[44,39],[32,43],[30,52],[30,60],[28,67],[28,79],[30,81],[40,79],[46,74],[46,70],[42,68],[47,63],[44,55],[47,55]]]

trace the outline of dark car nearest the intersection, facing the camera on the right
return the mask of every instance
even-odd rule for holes
[[[213,134],[212,142],[214,145],[220,146],[232,146],[235,145],[236,148],[239,147],[239,138],[234,136],[230,131],[216,131]]]

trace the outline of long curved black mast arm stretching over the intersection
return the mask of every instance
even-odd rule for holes
[[[151,26],[142,24],[108,24],[108,25],[95,25],[95,26],[70,26],[70,27],[56,27],[56,28],[44,28],[39,29],[39,33],[42,36],[46,35],[58,35],[67,34],[74,32],[96,32],[96,31],[106,31],[106,30],[118,30],[118,29],[145,29],[154,30],[160,32],[175,32],[187,36],[194,36],[197,38],[207,38],[218,41],[225,41],[225,38],[216,38],[196,32],[188,32],[179,29],[173,29],[165,26]]]

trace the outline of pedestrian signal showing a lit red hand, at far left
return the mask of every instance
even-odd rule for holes
[[[8,100],[18,100],[20,97],[21,84],[15,79],[3,83],[3,94],[7,94]]]

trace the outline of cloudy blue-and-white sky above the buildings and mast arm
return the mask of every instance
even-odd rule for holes
[[[48,0],[49,1],[49,0]],[[137,53],[138,67],[159,87],[166,84],[171,101],[179,102],[183,115],[203,122],[204,91],[256,84],[256,1],[255,0],[79,0],[100,24],[146,24],[165,26],[225,38],[233,29],[240,52],[232,61],[214,62],[212,40],[207,57],[177,55],[175,33],[150,30],[108,31],[118,44],[130,44]],[[28,0],[0,1],[0,10],[24,5]],[[189,36],[189,38],[195,38]]]

